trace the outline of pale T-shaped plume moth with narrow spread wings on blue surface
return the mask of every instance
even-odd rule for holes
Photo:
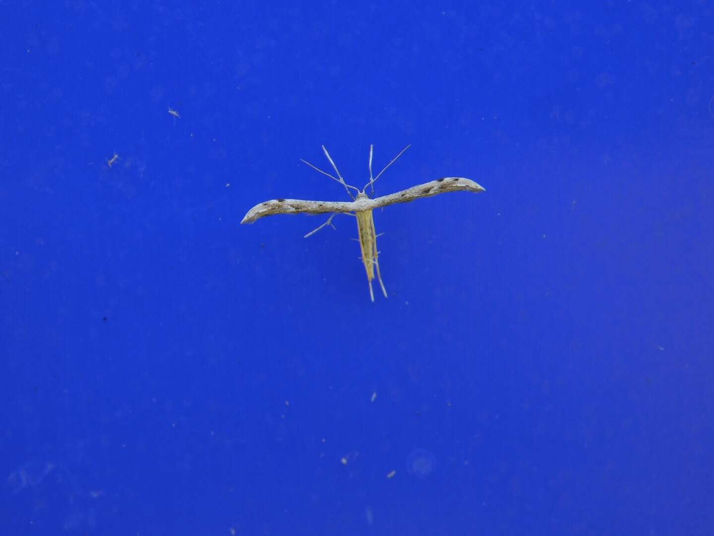
[[[374,183],[381,177],[381,175],[390,167],[396,159],[401,157],[401,155],[409,148],[410,145],[404,147],[404,149],[397,154],[396,157],[391,159],[381,172],[373,177],[372,174],[372,154],[373,146],[369,146],[369,182],[365,184],[363,189],[358,189],[345,182],[342,175],[337,169],[335,162],[333,161],[330,154],[327,152],[325,146],[322,146],[323,152],[327,157],[330,164],[332,164],[332,169],[335,170],[337,177],[332,174],[323,171],[322,169],[313,166],[310,162],[302,160],[303,163],[307,164],[311,168],[320,172],[323,175],[327,175],[331,179],[339,182],[345,187],[345,190],[352,201],[342,202],[342,201],[305,201],[303,199],[271,199],[270,201],[263,202],[261,204],[256,204],[255,207],[248,210],[248,214],[243,218],[241,224],[252,224],[256,222],[257,219],[273,216],[275,214],[330,214],[327,221],[323,223],[317,229],[314,229],[305,235],[305,238],[318,232],[323,227],[327,225],[334,229],[332,224],[332,219],[337,214],[350,214],[357,219],[357,232],[359,234],[359,246],[362,253],[362,262],[364,264],[364,269],[367,272],[367,282],[369,284],[369,297],[374,301],[374,292],[372,290],[372,281],[376,276],[379,282],[379,286],[382,288],[382,293],[384,297],[387,297],[387,290],[384,287],[384,282],[382,281],[382,274],[379,270],[379,252],[377,251],[377,237],[378,235],[374,229],[374,217],[372,211],[380,207],[387,207],[388,205],[395,203],[406,203],[413,201],[414,199],[419,199],[420,197],[431,197],[436,194],[443,194],[445,192],[486,192],[486,189],[481,185],[476,184],[469,179],[464,179],[463,177],[443,177],[443,179],[436,179],[435,181],[425,182],[424,184],[418,184],[418,186],[413,186],[401,192],[396,192],[395,194],[389,194],[382,197],[374,197]],[[371,190],[370,194],[367,194],[367,188]],[[353,195],[351,189],[356,192]]]

